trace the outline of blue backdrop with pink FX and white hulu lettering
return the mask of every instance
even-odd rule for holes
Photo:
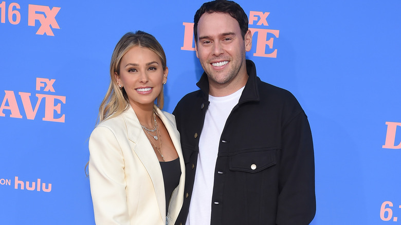
[[[1,0],[0,0],[1,1]],[[94,224],[88,138],[128,31],[167,54],[165,110],[196,90],[203,1],[0,2],[0,224]],[[246,1],[247,58],[311,123],[312,224],[401,224],[401,2]]]

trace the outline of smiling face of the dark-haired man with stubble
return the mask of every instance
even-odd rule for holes
[[[196,57],[208,75],[209,84],[224,85],[235,82],[239,73],[246,75],[245,51],[251,48],[250,31],[244,41],[240,25],[233,17],[213,12],[200,16],[197,32]]]

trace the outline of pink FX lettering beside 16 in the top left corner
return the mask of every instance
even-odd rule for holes
[[[43,35],[46,33],[48,36],[54,36],[53,29],[60,29],[56,21],[56,15],[60,11],[60,7],[53,7],[50,9],[48,6],[30,5],[28,7],[28,26],[35,26],[35,21],[41,23],[39,30],[36,34]],[[51,28],[50,28],[51,26]]]

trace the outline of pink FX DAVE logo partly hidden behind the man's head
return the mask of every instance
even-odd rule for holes
[[[279,37],[279,30],[266,29],[269,26],[267,23],[267,16],[269,12],[250,11],[249,12],[249,25],[255,25],[254,28],[249,27],[252,32],[252,39],[256,39],[256,52],[253,56],[256,57],[269,57],[277,58],[277,49],[274,49],[273,42]],[[194,36],[193,36],[193,23],[184,22],[184,45],[181,50],[195,51]]]

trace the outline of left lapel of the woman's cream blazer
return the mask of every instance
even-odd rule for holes
[[[161,172],[159,160],[157,159],[153,147],[150,144],[148,137],[143,132],[135,111],[131,106],[123,113],[123,118],[127,126],[128,138],[135,143],[132,151],[138,156],[153,182],[160,217],[164,223],[166,220],[165,185],[163,183],[163,174]]]

